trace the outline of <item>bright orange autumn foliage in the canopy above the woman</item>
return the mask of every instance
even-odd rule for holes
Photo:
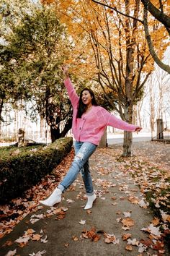
[[[159,1],[153,0],[152,2],[156,6]],[[143,25],[140,22],[138,22],[137,29],[133,30],[133,20],[90,0],[42,0],[42,4],[52,3],[59,19],[66,24],[67,33],[71,35],[73,51],[70,53],[66,64],[70,66],[71,72],[76,73],[78,77],[97,78],[97,74],[103,69],[112,81],[112,72],[115,72],[110,64],[112,61],[116,70],[120,69],[121,66],[122,81],[117,82],[122,82],[122,86],[124,86],[128,47],[133,48],[133,54],[130,57],[131,62],[129,61],[133,67],[131,74],[131,77],[134,77],[133,86],[138,80],[138,66],[142,59],[145,60],[143,72],[148,73],[153,70],[154,62],[148,51]],[[112,7],[117,7],[120,12],[125,13],[125,1],[115,0],[110,1],[110,4]],[[169,12],[168,4],[164,8]],[[130,0],[129,13],[132,16],[135,15],[134,0]],[[140,4],[137,18],[143,20],[142,4]],[[162,57],[169,45],[167,32],[160,22],[153,19],[151,14],[148,17],[148,25],[156,53]],[[118,62],[120,66],[117,64]],[[115,82],[112,81],[112,84]]]

